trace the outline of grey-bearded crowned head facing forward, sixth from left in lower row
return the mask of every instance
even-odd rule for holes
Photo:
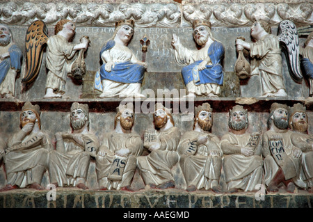
[[[236,105],[230,109],[230,118],[228,119],[230,129],[247,129],[248,122],[248,111],[243,109],[243,106]]]

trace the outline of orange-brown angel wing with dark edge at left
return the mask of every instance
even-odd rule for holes
[[[49,39],[48,29],[45,22],[41,20],[33,22],[26,32],[26,74],[22,79],[23,84],[31,84],[38,76],[42,63],[42,51]]]

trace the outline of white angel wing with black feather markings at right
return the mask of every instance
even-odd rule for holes
[[[280,22],[278,26],[278,40],[286,54],[291,78],[300,83],[303,75],[300,72],[299,38],[298,31],[293,22],[290,20]]]

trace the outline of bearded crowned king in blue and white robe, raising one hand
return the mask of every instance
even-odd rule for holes
[[[202,19],[193,22],[193,38],[200,46],[199,50],[187,49],[177,35],[172,35],[175,60],[186,65],[182,68],[182,77],[188,90],[187,96],[218,97],[224,79],[223,44],[213,38],[211,23]]]

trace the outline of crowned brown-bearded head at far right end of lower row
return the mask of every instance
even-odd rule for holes
[[[305,106],[294,104],[289,109],[289,128],[297,132],[307,132],[309,127]]]

